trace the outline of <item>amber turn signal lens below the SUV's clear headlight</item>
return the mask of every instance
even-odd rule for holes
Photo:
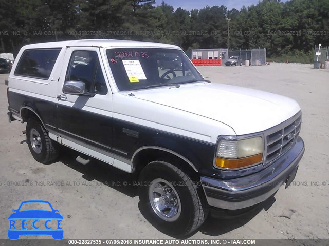
[[[216,166],[220,168],[243,168],[252,164],[261,162],[263,160],[263,154],[252,155],[240,159],[225,159],[216,157]]]

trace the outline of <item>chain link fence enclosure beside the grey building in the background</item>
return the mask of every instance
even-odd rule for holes
[[[241,57],[242,65],[246,64],[246,60],[249,60],[251,66],[266,64],[266,48],[230,50],[229,57],[231,56]]]

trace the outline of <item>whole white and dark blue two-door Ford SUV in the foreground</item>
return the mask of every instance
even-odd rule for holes
[[[182,71],[160,71],[163,53]],[[77,55],[86,64],[74,67]],[[8,116],[27,122],[34,159],[53,161],[63,145],[82,164],[93,157],[136,173],[140,208],[171,236],[188,237],[208,211],[249,209],[295,178],[305,149],[296,101],[211,83],[177,46],[63,41],[24,46],[17,60]]]

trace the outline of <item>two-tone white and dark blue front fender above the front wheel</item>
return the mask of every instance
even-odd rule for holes
[[[113,94],[113,109],[113,150],[127,159],[139,148],[156,146],[187,158],[199,173],[212,176],[218,136],[235,135],[221,122],[121,93]]]

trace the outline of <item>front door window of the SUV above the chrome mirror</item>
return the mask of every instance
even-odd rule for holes
[[[65,81],[68,80],[84,82],[87,92],[107,94],[104,75],[95,51],[72,52],[65,76]]]

